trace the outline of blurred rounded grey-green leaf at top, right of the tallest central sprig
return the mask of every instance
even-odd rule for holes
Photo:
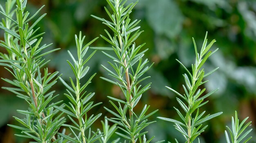
[[[168,37],[180,33],[184,20],[174,0],[147,0],[146,19],[158,35]]]

